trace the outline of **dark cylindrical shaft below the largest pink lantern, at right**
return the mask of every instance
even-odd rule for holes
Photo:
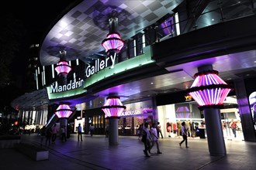
[[[206,133],[210,155],[227,155],[222,131],[220,109],[206,108],[203,110],[203,114],[206,121]]]

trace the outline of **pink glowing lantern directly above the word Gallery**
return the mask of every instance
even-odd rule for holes
[[[107,38],[102,41],[102,46],[106,49],[107,52],[109,50],[114,49],[119,52],[123,48],[124,42],[121,39],[119,33],[108,34]]]

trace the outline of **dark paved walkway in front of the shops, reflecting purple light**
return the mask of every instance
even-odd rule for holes
[[[40,145],[40,137],[23,135],[22,141]],[[207,139],[189,138],[189,148],[179,148],[182,138],[160,139],[163,154],[157,154],[157,148],[151,151],[151,157],[144,156],[144,145],[137,137],[119,136],[119,145],[109,145],[105,136],[83,136],[77,140],[77,134],[71,134],[66,142],[57,140],[50,147],[49,159],[33,161],[14,149],[0,149],[1,170],[51,170],[51,169],[256,169],[256,142],[225,141],[227,155],[212,157],[209,155]]]

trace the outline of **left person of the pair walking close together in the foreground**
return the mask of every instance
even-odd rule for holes
[[[144,142],[144,155],[146,155],[147,157],[150,157],[150,148],[151,148],[151,145],[150,145],[150,142],[152,141],[152,138],[151,138],[151,134],[150,134],[150,130],[148,128],[148,123],[146,122],[144,124],[144,134],[142,136],[142,139],[141,141]]]

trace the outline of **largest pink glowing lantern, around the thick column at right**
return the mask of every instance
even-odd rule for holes
[[[199,109],[221,107],[231,86],[218,76],[216,70],[195,74],[195,81],[188,90],[189,95],[199,104]]]

